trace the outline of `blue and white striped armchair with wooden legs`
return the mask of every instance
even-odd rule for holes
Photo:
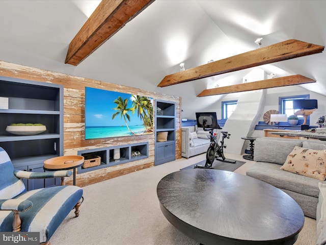
[[[71,176],[71,171],[33,173],[15,170],[7,152],[0,147],[0,232],[40,232],[40,243],[50,238],[69,212],[79,215],[83,189],[55,186],[26,191],[21,179]]]

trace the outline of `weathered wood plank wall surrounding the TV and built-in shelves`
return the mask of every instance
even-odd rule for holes
[[[176,159],[181,158],[181,97],[156,93],[98,80],[62,74],[39,68],[0,61],[0,76],[64,86],[64,155],[77,155],[79,150],[106,146],[149,142],[149,157],[120,165],[106,167],[76,175],[76,185],[85,186],[154,166],[155,136],[139,135],[85,140],[85,87],[119,91],[152,97],[176,103]],[[155,103],[154,103],[155,104]],[[155,115],[154,115],[155,116]],[[66,180],[72,183],[72,178]]]

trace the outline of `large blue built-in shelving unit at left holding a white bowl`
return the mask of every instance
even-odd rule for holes
[[[14,168],[44,172],[43,162],[63,155],[63,85],[0,77],[0,97],[8,105],[0,109],[0,146],[8,153]],[[37,135],[14,135],[11,124],[43,124]],[[32,190],[60,185],[60,178],[23,181]]]

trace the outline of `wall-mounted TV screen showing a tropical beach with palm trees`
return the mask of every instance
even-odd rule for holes
[[[153,133],[153,98],[85,88],[85,139]]]

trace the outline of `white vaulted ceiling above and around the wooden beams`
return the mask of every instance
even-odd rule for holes
[[[326,43],[326,1],[156,0],[78,66],[68,45],[87,20],[89,1],[0,1],[0,60],[182,96],[182,107],[208,108],[221,95],[196,97],[218,83],[237,84],[251,69],[173,85],[157,84],[185,68],[288,39]],[[300,85],[326,95],[325,52],[264,65],[267,74],[301,74]],[[187,117],[187,115],[184,115]]]

